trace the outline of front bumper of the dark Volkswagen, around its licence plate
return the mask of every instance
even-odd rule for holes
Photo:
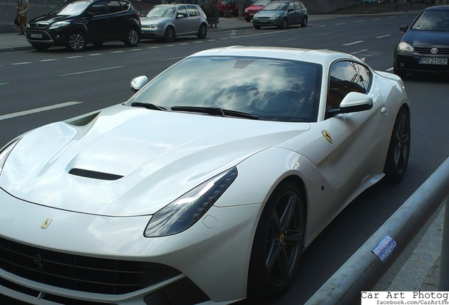
[[[421,57],[432,59],[447,59],[447,65],[438,64],[419,64]],[[419,54],[413,53],[400,53],[395,51],[395,70],[404,73],[449,73],[449,54],[431,55],[431,54]]]

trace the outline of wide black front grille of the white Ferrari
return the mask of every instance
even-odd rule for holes
[[[45,285],[100,294],[134,292],[181,274],[158,263],[78,256],[1,237],[0,268]]]

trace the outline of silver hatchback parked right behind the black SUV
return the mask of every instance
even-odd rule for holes
[[[160,4],[140,18],[141,39],[162,38],[172,42],[177,36],[196,35],[204,39],[208,35],[205,13],[196,4]]]

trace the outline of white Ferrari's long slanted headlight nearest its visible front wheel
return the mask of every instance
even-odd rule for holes
[[[145,237],[163,237],[182,232],[194,225],[237,177],[232,167],[188,191],[151,217]]]

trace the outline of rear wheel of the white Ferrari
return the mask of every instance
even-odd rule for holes
[[[383,172],[385,181],[398,183],[404,177],[409,163],[410,152],[410,116],[402,107],[396,116],[393,134],[388,146],[387,160]]]

